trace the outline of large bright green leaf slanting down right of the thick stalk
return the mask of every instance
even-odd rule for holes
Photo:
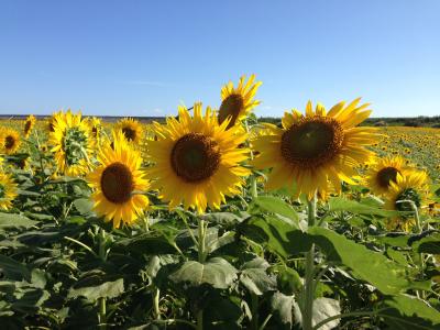
[[[328,261],[339,262],[352,270],[353,276],[369,282],[384,294],[397,294],[409,286],[405,267],[331,230],[312,227],[309,234],[323,250]]]

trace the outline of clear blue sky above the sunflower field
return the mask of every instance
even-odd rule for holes
[[[439,16],[439,0],[0,0],[0,113],[172,114],[255,73],[258,116],[358,96],[436,116]]]

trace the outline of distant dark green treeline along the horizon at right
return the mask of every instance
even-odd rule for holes
[[[258,121],[270,122],[279,125],[280,118],[260,117]],[[369,118],[362,125],[364,127],[411,127],[411,128],[437,128],[440,129],[440,116],[435,117],[389,117],[389,118]]]

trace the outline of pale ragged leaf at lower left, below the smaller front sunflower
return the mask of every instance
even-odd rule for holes
[[[82,296],[86,297],[88,300],[94,301],[98,298],[114,298],[121,295],[123,292],[123,279],[119,278],[117,280],[105,282],[96,286],[72,288],[68,293],[68,298]]]

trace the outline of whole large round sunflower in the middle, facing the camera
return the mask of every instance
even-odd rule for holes
[[[183,202],[186,209],[202,213],[207,206],[220,208],[224,196],[240,193],[242,176],[250,170],[239,163],[248,158],[249,150],[238,146],[246,139],[239,130],[227,130],[208,107],[194,106],[194,117],[185,107],[179,116],[168,118],[166,125],[154,123],[157,141],[148,142],[147,161],[154,165],[147,172],[152,188],[169,201],[169,208]]]

